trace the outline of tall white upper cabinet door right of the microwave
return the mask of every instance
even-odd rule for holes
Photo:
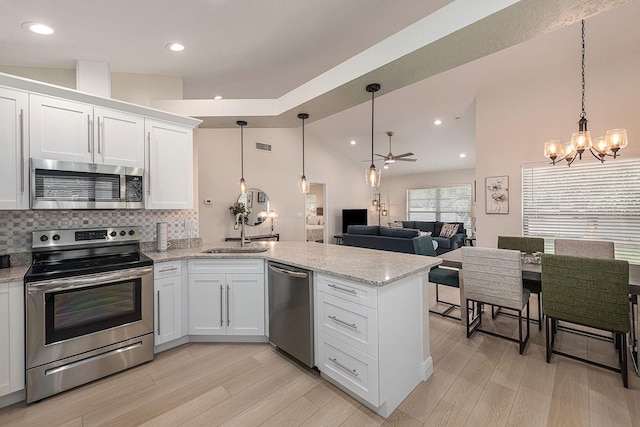
[[[193,209],[193,130],[146,120],[147,209]]]

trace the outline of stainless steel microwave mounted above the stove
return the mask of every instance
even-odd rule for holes
[[[31,159],[31,209],[143,208],[143,168]]]

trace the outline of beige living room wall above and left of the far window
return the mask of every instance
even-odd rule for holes
[[[430,159],[421,159],[420,161],[430,161]],[[384,171],[382,173],[384,175]],[[473,184],[474,179],[475,169],[383,177],[379,192],[382,203],[386,203],[389,209],[389,216],[386,220],[382,217],[381,224],[386,225],[387,222],[407,219],[408,189]],[[369,209],[369,217],[371,224],[378,223],[378,214],[372,208]]]

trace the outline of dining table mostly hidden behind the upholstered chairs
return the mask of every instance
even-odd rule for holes
[[[454,249],[449,252],[445,252],[438,255],[438,258],[442,259],[441,267],[457,268],[462,271],[462,248]],[[542,281],[542,266],[535,263],[522,262],[522,278]],[[467,299],[464,296],[464,274],[460,274],[460,307],[467,306]],[[629,264],[629,303],[631,313],[631,328],[629,331],[629,352],[631,353],[631,359],[634,364],[634,368],[638,376],[640,376],[640,369],[638,363],[638,333],[640,330],[640,316],[638,316],[638,299],[640,295],[640,265]],[[460,321],[463,325],[466,325],[467,316],[460,316]]]

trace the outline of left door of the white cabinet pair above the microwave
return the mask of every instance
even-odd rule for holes
[[[93,106],[29,95],[31,157],[92,162]]]

